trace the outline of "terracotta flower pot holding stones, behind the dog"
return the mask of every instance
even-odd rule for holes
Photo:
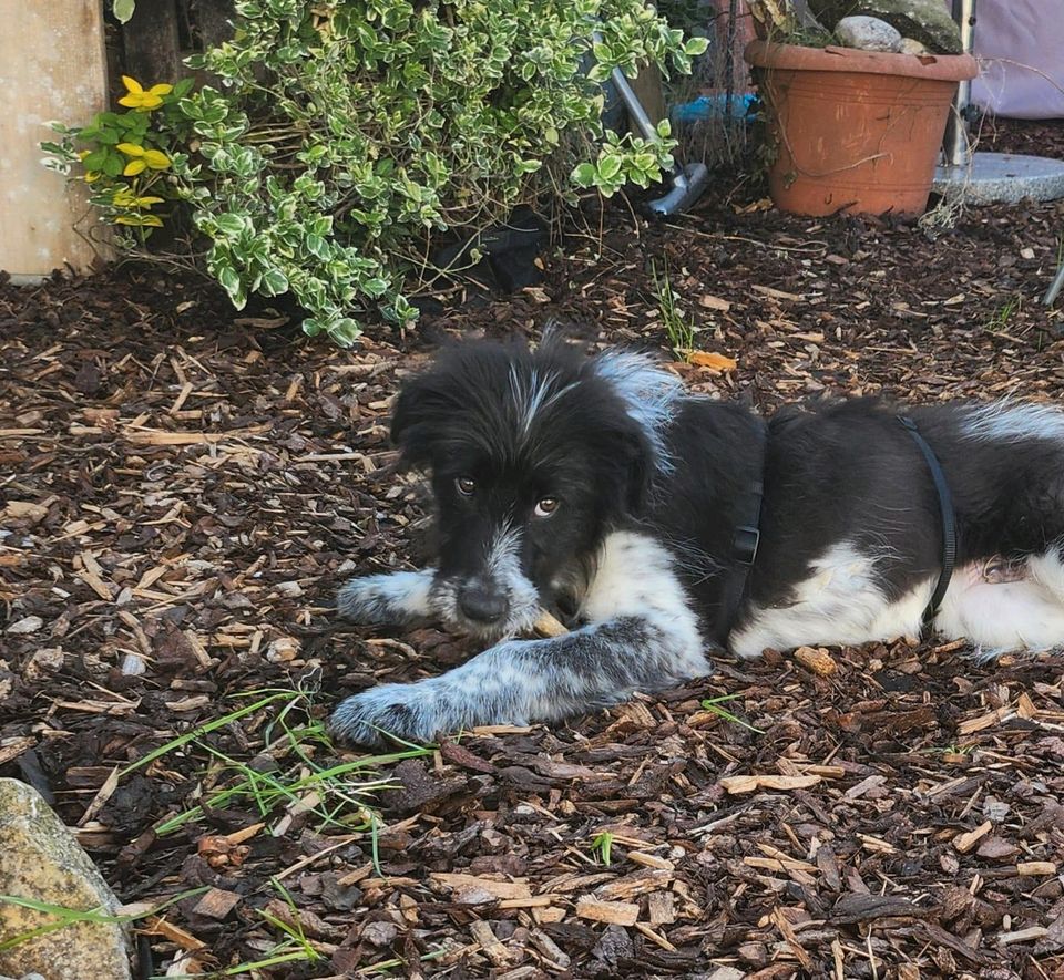
[[[883,54],[751,41],[778,153],[777,207],[801,215],[921,214],[968,54]]]

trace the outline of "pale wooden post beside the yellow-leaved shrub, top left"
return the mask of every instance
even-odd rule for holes
[[[85,187],[41,164],[52,120],[84,125],[106,107],[100,0],[0,0],[0,269],[37,281],[110,256]]]

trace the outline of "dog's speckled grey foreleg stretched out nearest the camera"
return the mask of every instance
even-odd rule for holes
[[[556,721],[698,677],[709,663],[689,630],[658,618],[617,617],[543,640],[507,640],[442,677],[383,684],[334,713],[338,737],[424,742],[482,724]]]

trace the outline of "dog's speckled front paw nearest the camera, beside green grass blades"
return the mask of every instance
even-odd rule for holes
[[[428,742],[442,730],[433,698],[421,684],[380,684],[340,702],[329,731],[352,745],[382,745],[388,735]]]

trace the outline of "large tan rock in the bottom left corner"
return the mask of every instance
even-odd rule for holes
[[[63,908],[119,900],[81,846],[41,795],[18,780],[0,780],[0,895]],[[54,921],[48,912],[0,902],[0,936],[12,938]],[[123,926],[73,922],[0,952],[0,974],[35,971],[47,980],[129,980],[129,935]]]

